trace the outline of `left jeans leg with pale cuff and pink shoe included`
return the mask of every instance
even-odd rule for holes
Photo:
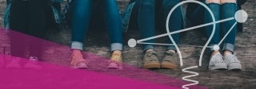
[[[92,0],[75,0],[72,20],[72,68],[88,68],[82,56],[83,41],[90,25],[90,7]]]

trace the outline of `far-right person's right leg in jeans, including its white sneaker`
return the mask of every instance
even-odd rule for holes
[[[222,7],[221,7],[221,13],[222,13],[222,19],[226,19],[229,17],[234,17],[234,14],[237,11],[237,4],[236,0],[221,0]],[[234,25],[236,21],[225,21],[222,23],[222,36],[226,35],[226,33],[231,29],[231,27]],[[235,56],[234,53],[234,42],[237,32],[237,25],[234,26],[233,29],[231,29],[231,32],[227,35],[226,39],[223,41],[223,51],[224,51],[224,60],[227,64],[228,70],[235,70],[240,71],[242,70],[242,65],[240,64],[240,61],[238,60],[238,57]]]

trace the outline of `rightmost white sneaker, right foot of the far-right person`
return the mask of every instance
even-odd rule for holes
[[[228,70],[234,70],[234,71],[242,70],[242,65],[240,64],[240,61],[238,60],[237,56],[235,55],[224,56],[224,60],[227,64]]]

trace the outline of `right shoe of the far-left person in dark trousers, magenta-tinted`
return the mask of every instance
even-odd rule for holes
[[[38,64],[38,57],[30,56],[30,59],[24,65],[24,68],[40,69],[42,66]]]

